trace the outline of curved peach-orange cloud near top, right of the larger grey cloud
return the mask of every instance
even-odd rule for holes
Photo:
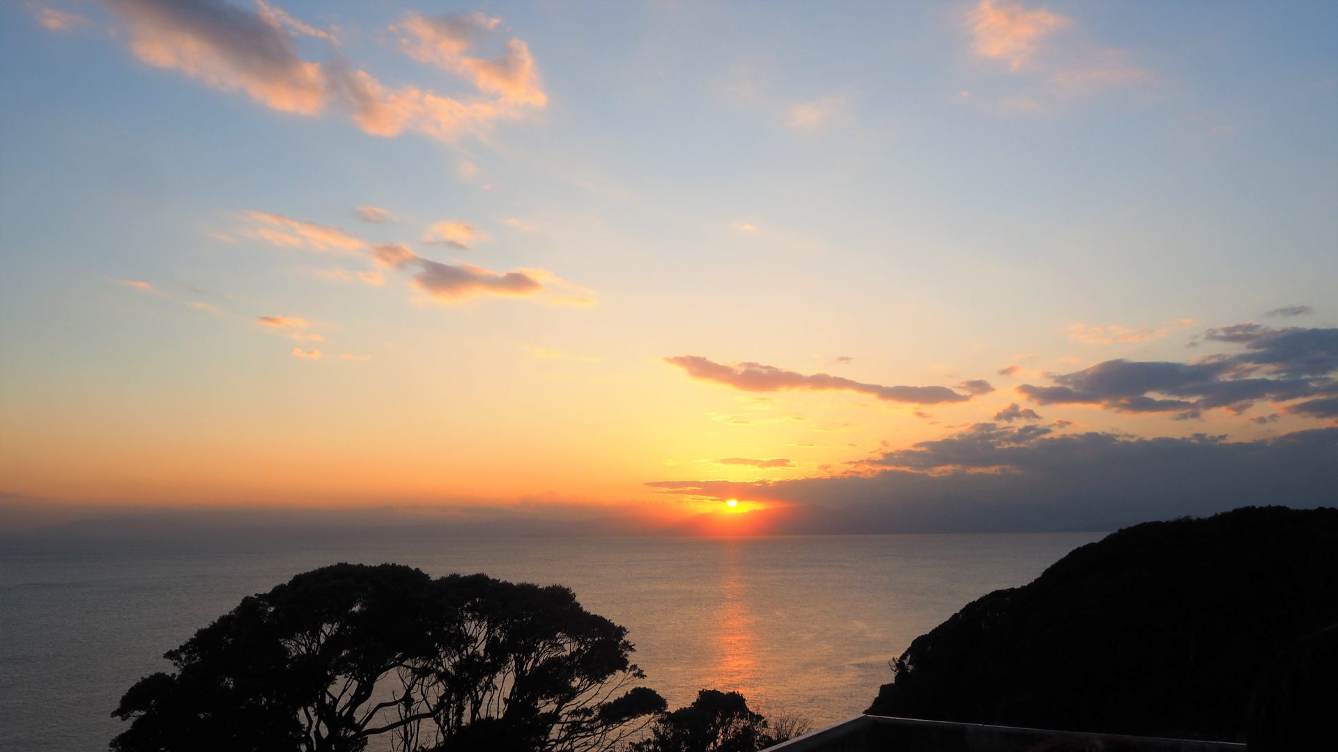
[[[480,12],[458,16],[408,13],[392,27],[400,33],[404,52],[420,63],[466,76],[480,91],[498,95],[507,104],[543,107],[549,98],[539,87],[530,47],[519,39],[506,44],[506,52],[492,60],[466,52],[474,40],[496,31],[502,20]]]

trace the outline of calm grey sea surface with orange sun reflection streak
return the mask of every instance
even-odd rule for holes
[[[162,653],[293,574],[340,561],[561,583],[630,630],[670,708],[701,688],[816,725],[862,712],[888,661],[969,601],[1100,533],[792,538],[0,541],[0,749],[106,749]]]

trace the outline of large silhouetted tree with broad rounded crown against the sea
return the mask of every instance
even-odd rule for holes
[[[245,598],[138,681],[116,752],[609,749],[664,711],[561,586],[334,565]]]

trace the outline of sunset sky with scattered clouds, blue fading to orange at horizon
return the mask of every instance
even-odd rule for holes
[[[1338,502],[1335,25],[5,4],[0,527]]]

